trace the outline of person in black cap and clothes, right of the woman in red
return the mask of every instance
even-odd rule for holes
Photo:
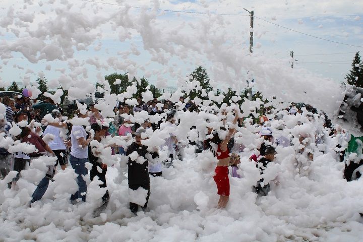
[[[260,169],[260,174],[262,175],[264,173],[264,170],[267,167],[267,164],[272,162],[275,159],[276,151],[272,146],[269,146],[266,148],[265,151],[265,157],[262,157],[257,163],[256,167]],[[263,183],[264,179],[261,178],[259,181],[257,181],[257,185],[254,187],[255,193],[257,193],[259,196],[266,196],[268,192],[270,192],[270,184],[264,184],[264,186],[261,185]]]

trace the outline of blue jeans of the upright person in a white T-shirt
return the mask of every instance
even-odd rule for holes
[[[78,184],[78,191],[75,194],[72,194],[71,200],[76,200],[81,198],[83,202],[86,201],[86,192],[87,192],[87,184],[86,181],[83,179],[82,175],[87,175],[88,170],[86,168],[86,162],[88,161],[87,158],[79,159],[70,155],[70,163],[75,170],[77,176],[77,184]]]

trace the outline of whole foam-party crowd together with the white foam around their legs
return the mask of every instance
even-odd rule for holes
[[[74,241],[153,241],[168,230],[181,241],[318,239],[334,237],[336,223],[359,230],[362,140],[323,111],[245,99],[243,112],[181,89],[161,98],[135,92],[115,106],[107,91],[88,105],[76,100],[73,113],[50,94],[38,104],[2,98],[7,241],[46,230]]]

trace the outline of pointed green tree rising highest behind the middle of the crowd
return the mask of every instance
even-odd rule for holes
[[[213,90],[209,84],[210,79],[208,77],[206,70],[202,67],[198,67],[196,70],[194,70],[194,72],[192,72],[190,76],[191,78],[189,79],[189,82],[197,81],[199,85],[202,87],[201,90],[197,89],[191,90],[189,94],[190,99],[193,100],[195,97],[199,97],[202,100],[208,99],[208,96],[202,97],[203,89],[206,91],[206,93]]]

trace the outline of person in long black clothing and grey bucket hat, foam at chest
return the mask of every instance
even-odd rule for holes
[[[128,180],[129,180],[129,189],[138,190],[138,188],[143,188],[148,191],[146,197],[146,203],[141,206],[141,208],[145,211],[149,197],[150,197],[150,177],[148,170],[148,160],[154,159],[158,156],[158,153],[149,152],[146,145],[141,144],[142,133],[145,133],[145,130],[139,130],[135,133],[135,141],[128,147],[126,155],[130,155],[133,152],[138,153],[138,157],[136,160],[132,160],[129,157],[128,166]],[[145,161],[142,163],[142,159]],[[130,202],[130,210],[136,214],[138,211],[138,204]]]

